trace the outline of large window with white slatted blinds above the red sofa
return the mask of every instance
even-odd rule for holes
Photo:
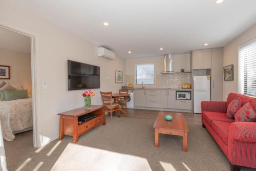
[[[256,38],[239,48],[239,93],[256,96]]]

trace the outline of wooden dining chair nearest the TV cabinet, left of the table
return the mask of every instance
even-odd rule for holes
[[[102,103],[105,106],[106,110],[108,110],[110,118],[112,119],[113,112],[117,112],[117,115],[120,117],[119,103],[112,102],[112,92],[100,92],[100,94],[102,98]]]

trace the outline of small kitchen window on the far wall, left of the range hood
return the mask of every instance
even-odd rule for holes
[[[154,85],[155,84],[155,64],[143,63],[135,67],[136,85]]]

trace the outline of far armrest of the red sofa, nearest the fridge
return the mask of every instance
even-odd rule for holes
[[[227,102],[226,101],[202,101],[201,102],[201,111],[209,112],[227,112]]]

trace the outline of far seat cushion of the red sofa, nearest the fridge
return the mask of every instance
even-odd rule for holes
[[[224,121],[224,122],[229,122],[232,123],[234,122],[234,119],[229,119],[226,116],[226,113],[220,113],[220,112],[208,112],[204,111],[202,113],[202,117],[204,120],[211,126],[211,123],[213,120],[219,120],[219,121]]]

